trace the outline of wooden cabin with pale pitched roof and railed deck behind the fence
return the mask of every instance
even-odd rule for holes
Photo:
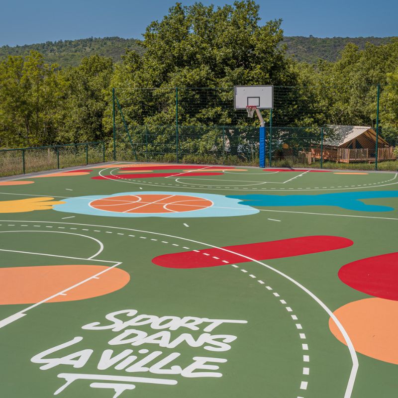
[[[396,160],[395,148],[380,134],[378,138],[378,161]],[[320,147],[311,150],[311,157],[320,159]],[[375,162],[376,131],[368,126],[326,126],[323,160],[336,163]]]

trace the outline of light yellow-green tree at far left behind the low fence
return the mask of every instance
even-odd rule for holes
[[[36,51],[9,56],[0,63],[0,82],[0,145],[52,143],[65,88],[58,65],[45,64]]]

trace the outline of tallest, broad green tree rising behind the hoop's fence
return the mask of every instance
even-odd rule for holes
[[[228,88],[180,90],[180,124],[247,123],[243,113],[234,112],[229,88],[296,82],[292,61],[280,46],[281,20],[260,24],[259,5],[253,0],[217,8],[200,2],[192,6],[176,3],[160,22],[152,22],[143,36],[146,51],[142,58],[128,52],[112,80],[113,87],[136,88],[116,91],[130,124],[174,124],[176,93],[167,89],[174,87]],[[232,135],[228,138],[235,141]],[[164,134],[158,139],[164,140]]]

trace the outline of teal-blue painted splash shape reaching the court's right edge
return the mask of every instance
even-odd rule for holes
[[[398,198],[398,191],[341,192],[320,195],[229,195],[248,206],[337,206],[355,211],[392,211],[394,207],[366,204],[363,199]]]

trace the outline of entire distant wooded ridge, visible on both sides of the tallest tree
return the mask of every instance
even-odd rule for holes
[[[297,61],[309,63],[316,62],[319,58],[327,61],[336,61],[341,50],[347,43],[355,43],[362,50],[366,43],[375,45],[386,44],[392,37],[303,37],[286,36],[283,44],[288,47],[288,55]],[[30,50],[37,50],[44,55],[45,62],[57,63],[62,67],[77,66],[83,57],[98,54],[111,57],[114,62],[120,61],[120,56],[126,48],[144,53],[140,41],[136,39],[123,39],[120,37],[91,37],[79,40],[47,41],[46,43],[30,44],[24,46],[0,47],[0,60],[7,55],[27,55]]]

